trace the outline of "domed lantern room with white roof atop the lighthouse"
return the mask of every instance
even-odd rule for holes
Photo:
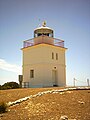
[[[34,30],[34,37],[38,37],[41,35],[53,37],[53,29],[47,27],[45,21],[42,23],[41,27],[38,27]]]

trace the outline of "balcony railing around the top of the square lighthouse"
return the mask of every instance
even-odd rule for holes
[[[38,45],[38,44],[43,44],[43,43],[64,48],[64,41],[63,40],[48,37],[45,35],[24,41],[23,48]]]

